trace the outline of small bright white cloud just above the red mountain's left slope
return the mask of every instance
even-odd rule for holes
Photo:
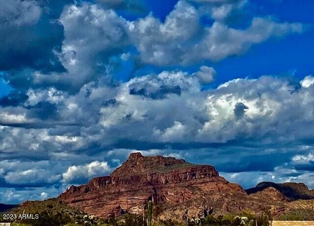
[[[62,174],[63,182],[78,182],[95,176],[104,176],[111,171],[107,162],[94,161],[86,165],[70,166]]]

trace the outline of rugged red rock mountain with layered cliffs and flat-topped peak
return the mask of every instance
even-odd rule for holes
[[[177,209],[178,215],[185,208],[196,212],[204,203],[214,205],[215,199],[222,200],[216,203],[222,208],[224,200],[234,195],[247,196],[241,186],[219,176],[213,166],[132,153],[110,176],[72,186],[58,199],[84,212],[107,217],[125,212],[140,213],[149,199],[165,208]]]

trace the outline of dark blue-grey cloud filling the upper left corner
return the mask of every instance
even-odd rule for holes
[[[62,4],[37,0],[1,0],[0,71],[32,68],[62,71],[53,50],[61,47],[63,27],[56,20]]]

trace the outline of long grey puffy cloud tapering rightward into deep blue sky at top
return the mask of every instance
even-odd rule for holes
[[[218,15],[225,8],[215,10],[213,17],[225,17]],[[129,23],[131,42],[145,63],[188,65],[239,55],[270,37],[302,32],[301,24],[277,23],[271,18],[258,17],[246,29],[229,27],[219,20],[210,27],[201,26],[201,15],[197,8],[181,0],[164,23],[152,15]]]

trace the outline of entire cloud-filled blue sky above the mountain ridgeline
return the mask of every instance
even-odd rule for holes
[[[131,152],[314,188],[314,1],[0,0],[0,202]]]

